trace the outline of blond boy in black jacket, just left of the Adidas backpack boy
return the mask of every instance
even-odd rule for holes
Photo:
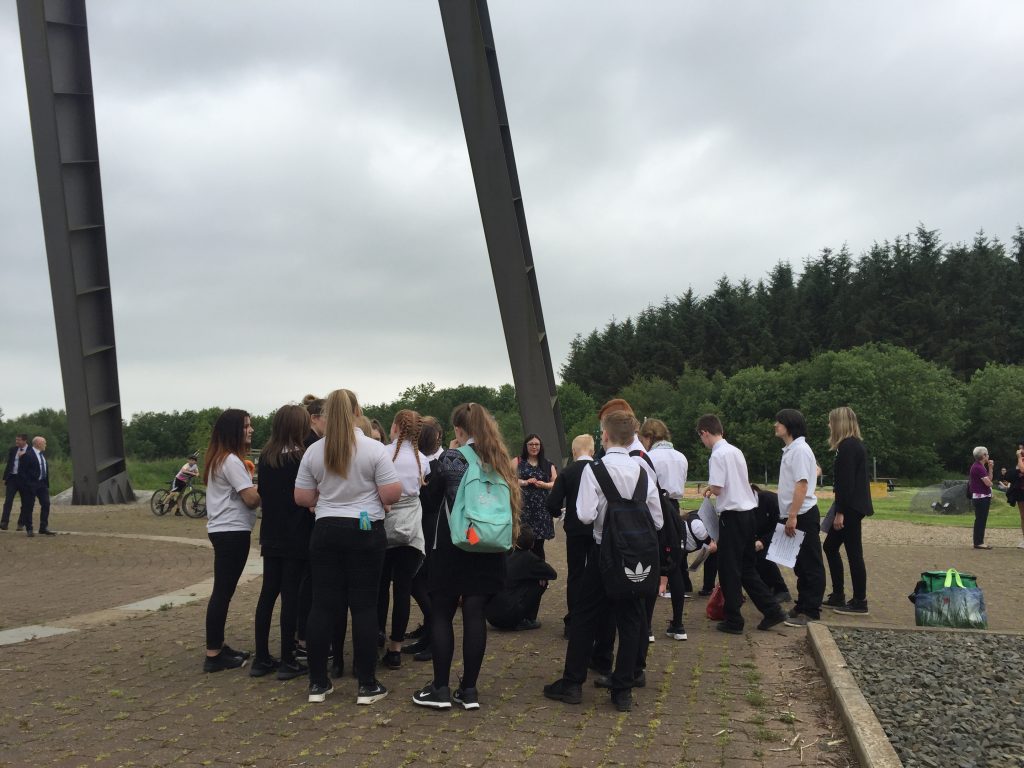
[[[565,624],[564,636],[568,637],[569,615],[580,595],[580,584],[587,560],[597,552],[594,544],[593,524],[584,524],[577,517],[575,502],[580,493],[580,478],[587,464],[594,460],[594,438],[589,434],[578,435],[572,440],[572,463],[555,478],[555,484],[548,494],[548,511],[552,517],[561,517],[565,510],[565,561],[568,574],[565,578],[565,602],[568,611],[562,620]],[[611,667],[610,653],[608,667]]]

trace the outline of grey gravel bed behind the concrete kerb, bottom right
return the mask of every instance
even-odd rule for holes
[[[831,633],[906,768],[1024,766],[1024,637]]]

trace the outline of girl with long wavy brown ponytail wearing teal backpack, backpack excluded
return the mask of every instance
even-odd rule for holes
[[[471,446],[480,462],[508,484],[512,541],[516,541],[519,537],[521,506],[519,482],[497,422],[482,406],[466,402],[457,406],[452,412],[452,424],[455,427],[456,443]],[[444,481],[444,499],[449,510],[455,504],[459,483],[468,467],[466,458],[454,449],[445,451],[437,460],[437,472]],[[484,608],[487,601],[504,586],[506,554],[481,554],[457,548],[452,543],[446,514],[438,515],[428,579],[434,679],[416,692],[413,701],[421,707],[447,710],[452,708],[454,700],[463,709],[477,710],[480,705],[476,681],[487,643]],[[464,671],[460,686],[453,695],[449,687],[452,658],[455,655],[453,622],[460,601]]]

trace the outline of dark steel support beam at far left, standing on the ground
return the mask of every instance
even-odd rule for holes
[[[17,0],[73,504],[118,504],[125,470],[85,0]]]

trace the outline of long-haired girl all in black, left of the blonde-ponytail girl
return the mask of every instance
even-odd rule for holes
[[[256,657],[249,674],[262,677],[278,670],[279,680],[305,674],[295,658],[299,585],[307,568],[313,516],[295,504],[295,476],[305,453],[309,414],[302,406],[283,406],[273,415],[270,439],[260,452],[259,479],[263,500],[260,554],[263,588],[256,603]],[[270,655],[273,604],[281,595],[281,660]]]

